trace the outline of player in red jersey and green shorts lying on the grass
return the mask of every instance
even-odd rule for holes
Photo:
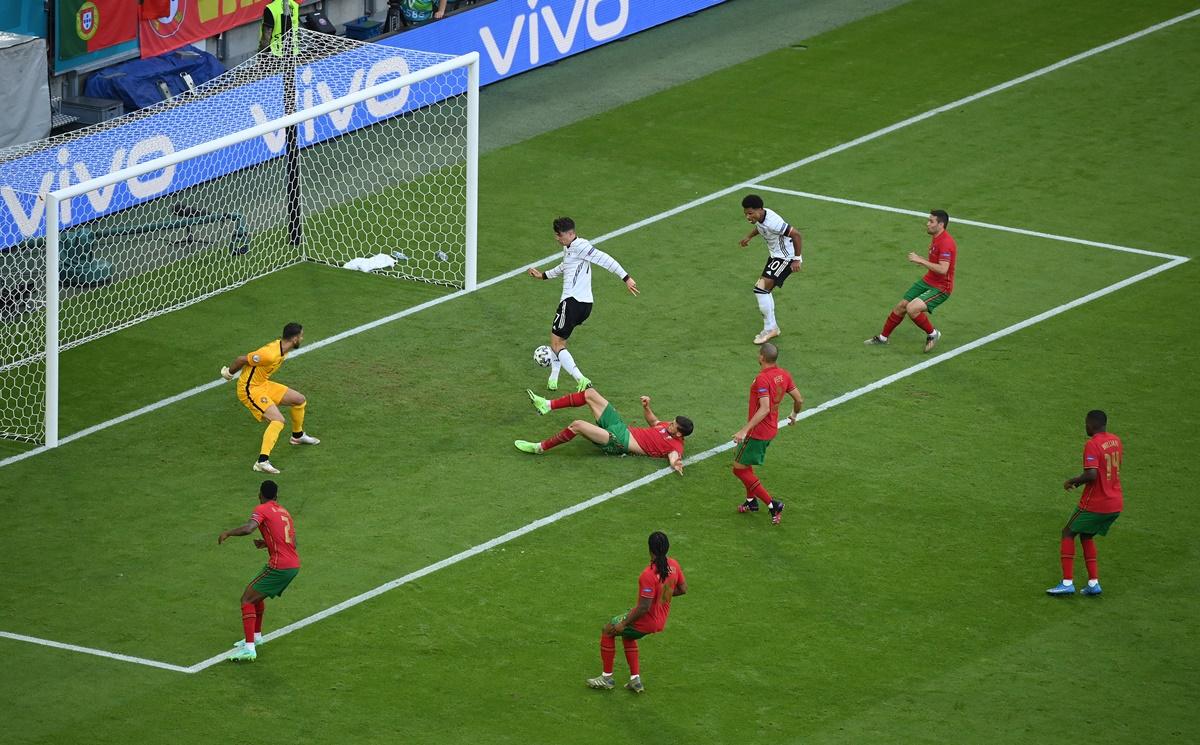
[[[617,409],[594,387],[553,401],[547,401],[530,390],[527,390],[526,393],[529,395],[529,401],[533,402],[539,414],[548,414],[552,409],[586,405],[592,409],[592,415],[596,421],[592,423],[576,419],[562,432],[540,443],[516,440],[512,444],[516,445],[517,450],[546,452],[551,447],[571,441],[576,434],[582,434],[608,455],[631,452],[652,458],[666,458],[671,463],[671,468],[680,476],[683,475],[683,440],[691,434],[691,420],[686,416],[676,416],[671,422],[660,420],[650,410],[649,396],[642,396],[642,415],[646,416],[646,422],[649,426],[630,427],[617,413]]]

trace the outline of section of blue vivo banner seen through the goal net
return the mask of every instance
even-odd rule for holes
[[[450,59],[424,52],[362,47],[296,71],[298,109],[328,103]],[[467,90],[458,70],[388,96],[368,98],[301,124],[307,148],[404,112],[424,108]],[[149,115],[148,115],[149,114]],[[0,163],[0,251],[46,233],[46,200],[40,194],[185,150],[283,116],[283,80],[266,77],[226,92],[162,110],[143,109],[124,126]],[[271,132],[208,156],[120,181],[60,205],[62,227],[76,226],[142,202],[203,184],[283,154],[284,133]]]

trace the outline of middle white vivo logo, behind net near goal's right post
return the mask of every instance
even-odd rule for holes
[[[403,58],[397,56],[380,60],[372,65],[370,70],[362,70],[361,67],[355,70],[354,74],[350,76],[348,90],[335,92],[329,86],[329,83],[324,80],[313,85],[312,68],[306,67],[304,72],[300,73],[300,85],[296,86],[296,106],[301,110],[311,109],[319,103],[329,103],[335,98],[356,94],[365,88],[371,88],[372,85],[378,85],[388,82],[389,79],[407,76],[408,73],[408,62]],[[408,103],[409,92],[409,86],[406,85],[386,98],[367,98],[364,103],[367,107],[367,113],[373,119],[385,119],[404,108],[404,104]],[[352,103],[348,107],[330,112],[328,115],[329,124],[332,125],[334,130],[337,132],[347,131],[350,126],[350,121],[354,119],[354,110],[358,107],[359,104]],[[263,107],[257,103],[250,107],[250,115],[254,118],[256,125],[264,125],[269,121],[266,112],[264,112]],[[306,143],[316,140],[316,120],[308,119],[301,122],[300,134]],[[266,149],[272,154],[280,154],[287,144],[287,134],[283,130],[276,130],[275,132],[263,136],[263,144],[265,144]]]

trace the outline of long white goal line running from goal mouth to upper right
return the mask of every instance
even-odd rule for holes
[[[1075,62],[1079,62],[1081,60],[1086,60],[1086,59],[1088,59],[1091,56],[1094,56],[1097,54],[1108,52],[1110,49],[1115,49],[1116,47],[1120,47],[1122,44],[1127,44],[1127,43],[1129,43],[1132,41],[1136,41],[1136,40],[1141,38],[1144,36],[1148,36],[1150,34],[1154,34],[1156,31],[1162,31],[1163,29],[1172,26],[1172,25],[1175,25],[1177,23],[1182,23],[1182,22],[1188,20],[1190,18],[1194,18],[1196,16],[1200,16],[1200,8],[1196,8],[1194,11],[1188,12],[1188,13],[1183,13],[1182,16],[1176,16],[1175,18],[1170,18],[1170,19],[1164,20],[1162,23],[1157,23],[1157,24],[1154,24],[1152,26],[1146,26],[1145,29],[1142,29],[1140,31],[1135,31],[1133,34],[1129,34],[1128,36],[1122,36],[1121,38],[1110,41],[1106,44],[1100,44],[1099,47],[1093,47],[1093,48],[1091,48],[1091,49],[1088,49],[1086,52],[1081,52],[1081,53],[1079,53],[1079,54],[1076,54],[1074,56],[1068,56],[1064,60],[1060,60],[1060,61],[1055,62],[1054,65],[1048,65],[1045,67],[1034,70],[1033,72],[1030,72],[1030,73],[1026,73],[1024,76],[1013,78],[1012,80],[1007,80],[1007,82],[1001,83],[998,85],[992,85],[991,88],[982,90],[982,91],[979,91],[977,94],[972,94],[970,96],[959,98],[956,101],[952,101],[950,103],[940,106],[937,108],[929,109],[928,112],[924,112],[922,114],[917,114],[916,116],[910,116],[908,119],[905,119],[902,121],[898,121],[894,125],[883,127],[882,130],[876,130],[875,132],[871,132],[869,134],[864,134],[862,137],[858,137],[858,138],[852,139],[850,142],[842,143],[840,145],[834,145],[833,148],[828,148],[826,150],[822,150],[821,152],[817,152],[815,155],[810,155],[810,156],[808,156],[805,158],[802,158],[799,161],[794,161],[792,163],[788,163],[787,166],[781,166],[780,168],[776,168],[774,170],[768,170],[767,173],[758,174],[754,179],[750,179],[750,182],[767,181],[767,180],[773,179],[775,176],[782,175],[782,174],[785,174],[785,173],[787,173],[790,170],[794,170],[794,169],[800,168],[803,166],[808,166],[809,163],[815,163],[816,161],[821,161],[821,160],[827,158],[827,157],[829,157],[832,155],[836,155],[839,152],[844,152],[846,150],[850,150],[851,148],[857,148],[858,145],[862,145],[863,143],[869,143],[869,142],[871,142],[874,139],[878,139],[878,138],[881,138],[881,137],[883,137],[886,134],[890,134],[892,132],[895,132],[898,130],[902,130],[902,128],[912,126],[912,125],[914,125],[914,124],[917,124],[919,121],[924,121],[926,119],[931,119],[934,116],[937,116],[938,114],[943,114],[943,113],[946,113],[948,110],[959,108],[961,106],[966,106],[967,103],[971,103],[973,101],[978,101],[979,98],[984,98],[986,96],[991,96],[992,94],[998,94],[1001,91],[1008,90],[1009,88],[1020,85],[1021,83],[1027,83],[1028,80],[1032,80],[1034,78],[1040,78],[1044,74],[1051,73],[1051,72],[1054,72],[1056,70],[1061,70],[1063,67],[1067,67],[1068,65],[1074,65]],[[721,197],[728,196],[728,194],[738,191],[742,187],[743,187],[743,185],[738,184],[738,185],[731,186],[728,188],[722,188],[722,190],[713,192],[712,194],[708,194],[706,197],[700,197],[700,198],[694,199],[694,200],[691,200],[691,202],[689,202],[686,204],[682,204],[682,205],[679,205],[677,208],[672,208],[672,209],[666,210],[664,212],[659,212],[658,215],[653,215],[650,217],[647,217],[646,220],[641,220],[638,222],[628,224],[624,228],[618,228],[617,230],[613,230],[611,233],[606,233],[605,235],[602,235],[602,236],[600,236],[598,239],[594,239],[592,242],[599,244],[601,241],[605,241],[605,240],[608,240],[608,239],[612,239],[612,238],[617,238],[618,235],[624,235],[625,233],[629,233],[631,230],[637,230],[640,228],[644,228],[646,226],[656,223],[659,221],[666,220],[668,217],[673,217],[673,216],[676,216],[676,215],[678,215],[680,212],[690,210],[694,206],[698,206],[701,204],[706,204],[706,203],[712,202],[714,199],[719,199]],[[547,256],[547,257],[545,257],[542,259],[539,259],[534,264],[540,266],[541,264],[546,264],[548,262],[554,260],[556,258],[558,258],[558,256],[559,256],[558,253],[552,253],[552,254],[550,254],[550,256]],[[517,269],[506,271],[506,272],[504,272],[502,275],[497,275],[497,276],[492,277],[491,280],[487,280],[485,282],[479,283],[479,286],[475,289],[476,290],[478,289],[484,289],[485,287],[490,287],[492,284],[496,284],[497,282],[502,282],[502,281],[508,280],[510,277],[515,277],[515,276],[520,275],[522,271],[524,271],[526,266],[528,266],[528,265],[520,266]],[[403,310],[403,311],[401,311],[398,313],[392,313],[391,316],[385,316],[384,318],[380,318],[378,320],[373,320],[373,322],[364,324],[361,326],[355,326],[354,329],[349,329],[349,330],[343,331],[343,332],[341,332],[341,334],[338,334],[336,336],[331,336],[329,338],[325,338],[325,340],[322,340],[319,342],[316,342],[316,343],[308,346],[305,349],[300,349],[300,350],[293,353],[292,356],[296,356],[296,355],[302,354],[305,352],[312,352],[313,349],[320,349],[322,347],[331,344],[331,343],[334,343],[336,341],[341,341],[341,340],[348,338],[350,336],[356,336],[359,334],[362,334],[364,331],[368,331],[368,330],[374,329],[377,326],[380,326],[383,324],[388,324],[388,323],[391,323],[394,320],[398,320],[401,318],[404,318],[406,316],[412,316],[413,313],[418,313],[420,311],[424,311],[426,308],[431,308],[431,307],[440,305],[443,302],[448,302],[450,300],[455,300],[455,299],[461,298],[461,296],[463,296],[466,294],[468,294],[467,290],[460,290],[457,293],[451,293],[449,295],[444,295],[442,298],[437,298],[434,300],[430,300],[427,302],[422,302],[421,305],[418,305],[418,306],[414,306],[414,307],[410,307],[410,308],[406,308],[406,310]],[[178,403],[178,402],[180,402],[180,401],[182,401],[185,398],[190,398],[190,397],[196,396],[198,393],[203,393],[204,391],[206,391],[206,390],[209,390],[211,387],[216,387],[216,386],[221,385],[221,383],[223,383],[223,381],[220,380],[220,379],[218,380],[214,380],[211,383],[205,383],[204,385],[198,385],[196,387],[188,389],[188,390],[186,390],[186,391],[184,391],[181,393],[176,393],[174,396],[170,396],[169,398],[163,398],[162,401],[151,403],[149,405],[144,405],[140,409],[136,409],[133,411],[128,411],[127,414],[122,414],[122,415],[120,415],[118,417],[109,419],[108,421],[103,421],[103,422],[101,422],[98,425],[94,425],[91,427],[88,427],[86,429],[80,429],[79,432],[76,432],[73,434],[70,434],[67,437],[61,438],[59,440],[59,445],[66,445],[67,443],[74,441],[77,439],[82,438],[82,437],[88,437],[89,434],[95,434],[96,432],[101,432],[101,431],[107,429],[107,428],[109,428],[112,426],[119,425],[121,422],[126,422],[126,421],[128,421],[131,419],[134,419],[137,416],[142,416],[143,414],[149,414],[150,411],[156,411],[156,410],[158,410],[158,409],[161,409],[163,407],[168,407],[168,405],[170,405],[173,403]],[[34,447],[32,450],[26,450],[25,452],[22,452],[22,453],[18,453],[18,455],[10,456],[7,458],[0,459],[0,468],[4,468],[5,465],[11,465],[12,463],[17,463],[18,461],[24,461],[25,458],[29,458],[29,457],[32,457],[32,456],[36,456],[36,455],[41,455],[41,453],[46,452],[47,450],[49,450],[49,449],[46,447],[44,445],[42,445],[42,446],[38,446],[38,447]]]

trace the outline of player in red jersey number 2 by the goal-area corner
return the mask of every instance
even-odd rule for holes
[[[296,529],[292,515],[276,501],[280,487],[274,481],[263,481],[258,487],[258,506],[245,524],[224,530],[217,543],[234,535],[250,535],[254,530],[263,534],[254,539],[256,548],[265,548],[266,566],[251,579],[241,594],[241,627],[245,639],[234,645],[229,659],[234,662],[253,662],[258,657],[257,644],[263,643],[263,612],[268,597],[278,597],[300,573],[300,554],[296,553]]]

